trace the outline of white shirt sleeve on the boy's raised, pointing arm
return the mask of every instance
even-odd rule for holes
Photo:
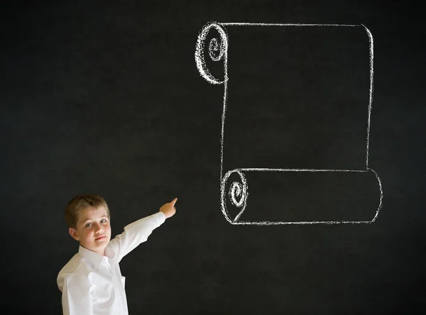
[[[116,255],[118,261],[131,252],[140,243],[145,242],[148,236],[153,233],[165,221],[165,215],[159,211],[151,216],[134,221],[124,227],[124,232],[116,236],[109,242],[109,250]]]

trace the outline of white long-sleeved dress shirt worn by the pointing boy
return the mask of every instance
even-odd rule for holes
[[[64,315],[127,315],[124,290],[125,277],[121,276],[119,262],[126,254],[145,242],[155,228],[165,221],[158,212],[124,227],[124,232],[111,240],[105,256],[80,245],[58,274],[58,287],[62,292]]]

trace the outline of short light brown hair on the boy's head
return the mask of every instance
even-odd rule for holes
[[[104,197],[98,196],[97,194],[75,196],[68,202],[67,206],[65,206],[65,221],[67,222],[68,227],[76,228],[78,216],[82,210],[87,208],[97,209],[101,206],[107,210],[108,219],[110,219],[108,204]]]

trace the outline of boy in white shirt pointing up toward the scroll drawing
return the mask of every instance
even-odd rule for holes
[[[111,241],[105,199],[82,195],[70,200],[65,207],[65,221],[70,235],[80,246],[58,274],[64,315],[129,314],[119,262],[175,214],[177,200],[161,206],[157,214],[130,223]]]

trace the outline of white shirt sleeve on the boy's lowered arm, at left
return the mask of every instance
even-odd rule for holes
[[[93,315],[92,290],[87,277],[73,273],[62,275],[58,285],[62,291],[63,315]]]

